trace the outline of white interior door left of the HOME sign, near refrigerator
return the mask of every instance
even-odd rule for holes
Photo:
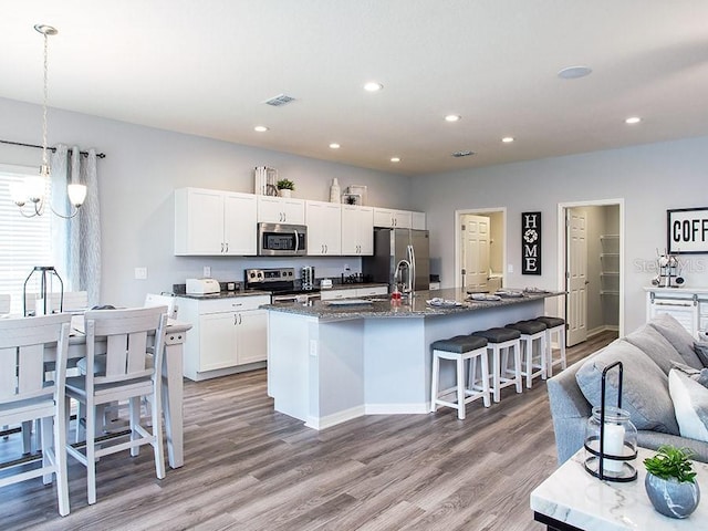
[[[486,291],[489,280],[489,218],[466,215],[462,218],[462,285],[467,290]]]

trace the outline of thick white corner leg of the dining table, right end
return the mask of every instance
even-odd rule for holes
[[[183,345],[166,344],[163,362],[163,407],[165,409],[165,434],[167,456],[171,468],[185,464],[184,414],[183,414]]]

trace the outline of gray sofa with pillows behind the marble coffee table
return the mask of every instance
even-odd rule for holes
[[[708,442],[681,437],[668,389],[668,373],[676,364],[704,368],[694,337],[674,317],[658,315],[636,332],[573,364],[548,381],[559,464],[583,447],[592,407],[600,405],[604,367],[623,362],[622,406],[637,427],[637,442],[650,449],[669,444],[694,450],[694,459],[708,462]],[[607,405],[617,403],[617,372],[607,376]]]

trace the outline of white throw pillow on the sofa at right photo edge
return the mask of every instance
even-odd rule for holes
[[[708,389],[676,369],[668,374],[668,388],[681,437],[708,442]]]

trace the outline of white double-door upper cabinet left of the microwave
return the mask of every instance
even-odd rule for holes
[[[257,196],[175,190],[175,254],[247,257],[257,253]],[[252,227],[252,230],[244,228]]]

